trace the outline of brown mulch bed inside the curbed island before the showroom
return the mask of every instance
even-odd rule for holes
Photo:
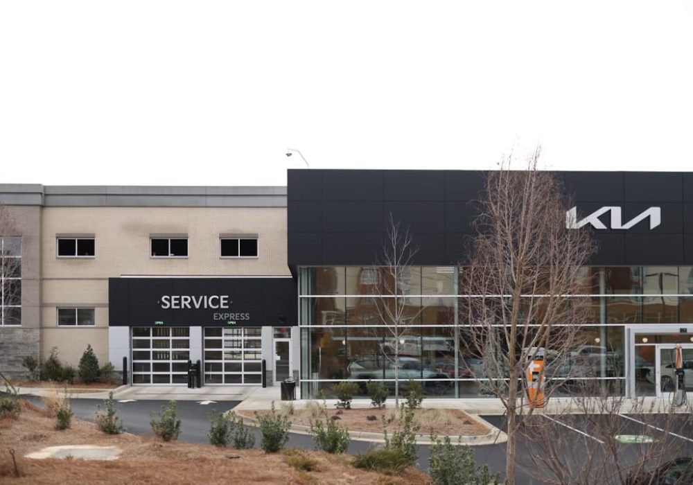
[[[397,414],[394,409],[325,409],[323,407],[313,409],[295,409],[290,414],[288,408],[277,410],[285,414],[289,421],[297,425],[310,425],[310,421],[316,419],[335,419],[339,425],[346,426],[351,431],[383,432],[385,427],[388,432],[398,427]],[[262,411],[259,414],[265,414]],[[240,412],[243,416],[254,417],[252,411]],[[334,416],[334,417],[333,417]],[[375,418],[374,418],[375,416]],[[370,419],[369,419],[370,417]],[[489,432],[489,428],[478,423],[464,411],[459,409],[416,409],[414,420],[419,425],[419,434],[428,435],[434,432],[438,436],[446,434],[451,436],[483,436]]]

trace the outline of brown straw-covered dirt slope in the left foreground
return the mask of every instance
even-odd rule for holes
[[[305,451],[318,461],[317,469],[299,472],[283,462],[283,455],[261,450],[234,450],[120,434],[110,436],[93,424],[73,418],[69,430],[57,431],[55,421],[42,409],[23,401],[17,419],[0,419],[0,482],[19,484],[430,484],[415,468],[387,476],[353,468],[352,457]],[[46,446],[90,444],[118,446],[115,461],[80,459],[26,459],[24,455]],[[13,476],[8,449],[15,450],[21,477]]]

